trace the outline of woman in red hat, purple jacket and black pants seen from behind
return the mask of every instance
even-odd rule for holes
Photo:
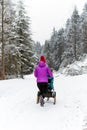
[[[48,91],[48,76],[53,77],[53,74],[46,64],[46,59],[42,55],[40,61],[34,70],[34,76],[37,78],[37,87],[40,91],[40,95],[44,98]]]

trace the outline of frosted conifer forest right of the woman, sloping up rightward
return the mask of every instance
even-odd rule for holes
[[[67,19],[65,28],[58,31],[53,28],[52,35],[44,45],[35,43],[37,57],[43,54],[47,63],[54,70],[80,60],[87,54],[87,3],[79,15],[74,8],[71,18]]]

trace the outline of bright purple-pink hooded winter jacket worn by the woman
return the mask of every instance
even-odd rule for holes
[[[48,82],[48,75],[53,77],[53,74],[46,63],[40,61],[34,70],[34,76],[37,78],[37,82]]]

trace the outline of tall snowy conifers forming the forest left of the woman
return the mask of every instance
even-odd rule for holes
[[[0,12],[0,78],[23,78],[35,63],[30,17],[21,0],[1,0]]]

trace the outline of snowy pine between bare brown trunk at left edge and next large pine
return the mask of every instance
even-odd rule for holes
[[[11,76],[16,73],[16,31],[15,31],[15,9],[14,3],[10,0],[5,0],[5,71],[6,75]]]

